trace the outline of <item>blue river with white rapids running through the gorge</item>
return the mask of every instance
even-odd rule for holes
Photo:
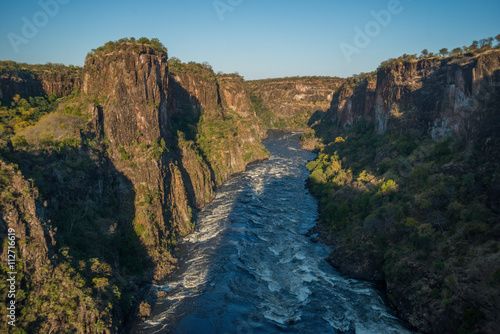
[[[330,247],[305,236],[318,219],[305,186],[315,154],[299,138],[270,132],[269,160],[219,187],[136,333],[411,333],[372,283],[341,275]]]

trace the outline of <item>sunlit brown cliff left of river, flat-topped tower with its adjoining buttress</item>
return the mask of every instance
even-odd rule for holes
[[[192,231],[192,210],[266,156],[248,95],[241,82],[219,84],[202,66],[169,73],[166,53],[128,43],[87,58],[82,90],[93,101],[96,137],[109,141],[113,165],[133,185],[134,229],[148,231],[140,238],[162,279],[175,263],[166,241]],[[219,138],[228,124],[232,131]]]

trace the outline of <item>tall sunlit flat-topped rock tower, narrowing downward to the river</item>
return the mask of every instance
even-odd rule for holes
[[[109,141],[113,165],[131,181],[128,191],[135,193],[136,204],[142,203],[135,207],[133,224],[148,231],[140,238],[156,265],[156,279],[175,263],[166,240],[191,230],[187,201],[179,191],[183,184],[167,156],[167,75],[166,53],[125,44],[90,55],[82,80],[83,93],[93,101],[89,111],[95,136]]]

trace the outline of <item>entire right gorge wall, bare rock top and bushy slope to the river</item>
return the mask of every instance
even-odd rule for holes
[[[394,60],[347,79],[314,126],[329,261],[384,281],[422,332],[499,325],[499,82],[500,50]]]

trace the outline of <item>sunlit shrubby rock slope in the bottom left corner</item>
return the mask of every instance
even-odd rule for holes
[[[57,233],[45,212],[47,202],[39,201],[33,180],[26,180],[16,169],[0,161],[0,238],[6,241],[1,272],[9,278],[0,294],[4,305],[14,307],[0,311],[11,322],[4,321],[0,329],[5,333],[17,328],[27,332],[95,332],[95,324],[109,310],[102,308],[101,298],[92,296],[92,289],[84,287],[82,277],[72,268],[68,250],[56,246]],[[40,305],[44,305],[43,311]],[[111,321],[107,324],[113,327]]]

